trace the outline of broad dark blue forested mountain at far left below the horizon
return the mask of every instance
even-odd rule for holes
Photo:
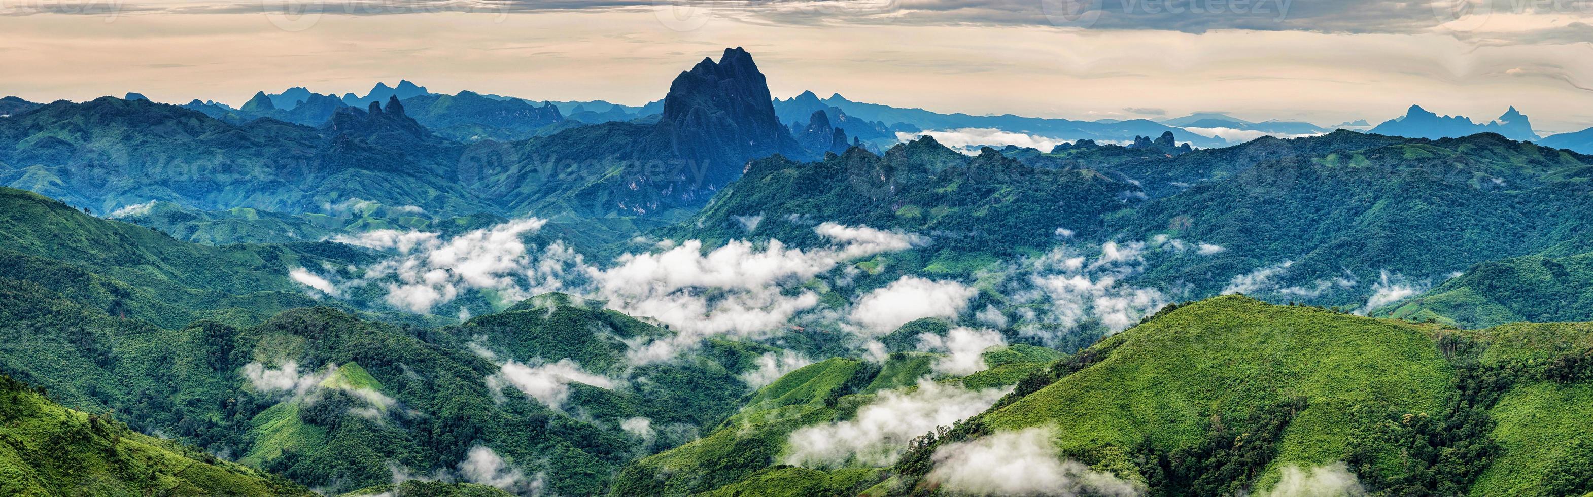
[[[112,97],[54,102],[0,121],[0,185],[96,212],[175,201],[298,213],[350,198],[452,215],[491,212],[456,178],[462,153],[446,140],[274,119],[234,126],[175,105]]]

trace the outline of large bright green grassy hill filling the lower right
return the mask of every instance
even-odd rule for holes
[[[1150,495],[1266,489],[1338,462],[1372,495],[1582,495],[1593,452],[1593,327],[1461,331],[1222,296],[1166,309],[921,440],[1055,427],[1063,457]],[[1236,438],[1238,436],[1238,438]],[[890,486],[887,486],[890,487]]]

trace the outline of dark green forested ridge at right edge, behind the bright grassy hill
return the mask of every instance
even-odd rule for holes
[[[1442,280],[1582,239],[1593,218],[1590,164],[1590,156],[1493,134],[1289,156],[1109,215],[1107,226],[1225,248],[1152,260],[1147,282],[1214,295],[1235,276],[1287,261],[1265,296],[1365,303],[1364,285],[1384,269]],[[1362,285],[1327,284],[1335,279]],[[1279,296],[1278,288],[1303,292]]]

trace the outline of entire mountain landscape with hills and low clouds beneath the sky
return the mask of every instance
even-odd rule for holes
[[[1593,492],[1593,156],[1513,108],[0,105],[0,494]]]

